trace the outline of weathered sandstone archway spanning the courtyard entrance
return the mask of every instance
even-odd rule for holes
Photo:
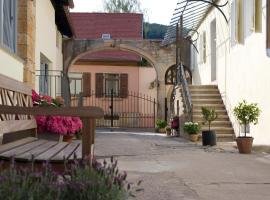
[[[78,58],[84,54],[102,50],[122,50],[129,51],[144,57],[156,70],[158,89],[157,89],[157,117],[163,118],[164,99],[166,97],[165,72],[167,66],[175,64],[175,45],[161,46],[161,40],[87,40],[87,39],[68,39],[63,42],[63,63],[64,73],[62,81],[62,92],[70,105],[70,91],[68,70]]]

